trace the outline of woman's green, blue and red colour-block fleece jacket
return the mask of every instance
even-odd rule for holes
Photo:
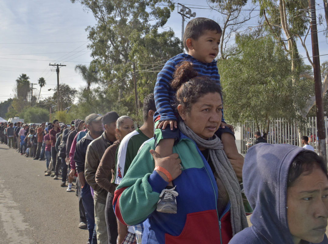
[[[180,132],[180,141],[173,147],[183,166],[181,175],[173,180],[179,193],[176,214],[155,211],[168,183],[154,171],[150,149],[154,149],[154,139],[140,149],[115,191],[113,207],[118,220],[126,225],[143,222],[142,243],[227,244],[232,238],[230,202],[218,216],[215,178],[195,142]]]

